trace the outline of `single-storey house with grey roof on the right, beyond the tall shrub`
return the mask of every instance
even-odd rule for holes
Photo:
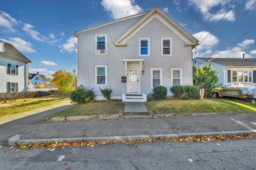
[[[256,58],[199,58],[193,59],[194,66],[208,65],[219,73],[219,83],[224,85],[241,83],[256,86]]]

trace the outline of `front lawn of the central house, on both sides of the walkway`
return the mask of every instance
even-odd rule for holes
[[[118,114],[124,110],[122,100],[96,101],[88,104],[74,105],[47,117]],[[168,113],[256,113],[256,104],[237,99],[202,99],[202,100],[176,100],[166,99],[156,101],[148,98],[146,103],[148,111],[158,114]]]

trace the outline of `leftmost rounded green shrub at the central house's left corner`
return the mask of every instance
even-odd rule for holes
[[[93,88],[85,88],[82,84],[70,93],[72,102],[78,104],[93,102],[94,97]]]

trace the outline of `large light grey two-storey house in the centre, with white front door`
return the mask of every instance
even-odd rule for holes
[[[157,6],[150,11],[75,32],[78,85],[111,88],[112,99],[139,101],[156,86],[192,84],[198,40]],[[128,94],[128,95],[127,95]],[[132,98],[132,99],[128,99]]]

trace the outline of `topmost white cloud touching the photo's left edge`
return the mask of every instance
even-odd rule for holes
[[[9,14],[6,14],[4,11],[0,11],[0,27],[5,27],[6,29],[2,29],[1,31],[7,33],[14,33],[17,30],[14,29],[14,25],[16,25],[18,21],[15,18],[12,18]]]

